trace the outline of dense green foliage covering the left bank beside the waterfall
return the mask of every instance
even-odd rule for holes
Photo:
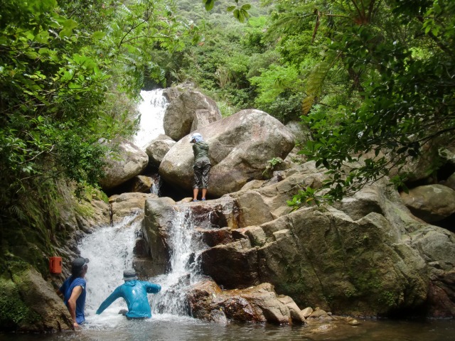
[[[144,75],[164,82],[151,51],[177,51],[194,31],[167,1],[0,1],[5,255],[9,243],[35,238],[14,237],[14,229],[32,227],[46,244],[59,214],[60,181],[75,185],[79,196],[97,185],[107,143],[134,133]]]

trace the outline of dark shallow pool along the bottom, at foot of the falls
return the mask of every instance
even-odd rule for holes
[[[88,323],[78,332],[53,335],[1,335],[4,341],[148,341],[148,340],[352,340],[352,341],[449,341],[454,340],[454,320],[427,322],[364,320],[356,327],[345,323],[332,329],[310,332],[308,326],[277,326],[252,323],[205,323],[193,318],[156,314],[151,320],[132,321],[114,317],[114,328],[105,323]]]

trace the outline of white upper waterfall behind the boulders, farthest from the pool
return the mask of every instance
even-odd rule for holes
[[[142,90],[141,97],[143,101],[137,108],[141,114],[141,124],[133,143],[145,151],[151,140],[164,134],[163,120],[168,102],[163,96],[163,89]]]

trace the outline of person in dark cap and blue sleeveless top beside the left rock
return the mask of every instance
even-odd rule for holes
[[[89,259],[78,257],[71,262],[71,276],[66,278],[62,286],[58,288],[57,293],[63,296],[63,302],[68,307],[71,317],[73,318],[73,327],[79,328],[85,322],[85,294]]]

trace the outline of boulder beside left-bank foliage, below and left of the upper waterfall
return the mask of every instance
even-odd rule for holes
[[[106,176],[100,180],[103,190],[109,190],[139,175],[149,163],[149,156],[129,141],[121,141],[118,153],[107,156]]]

